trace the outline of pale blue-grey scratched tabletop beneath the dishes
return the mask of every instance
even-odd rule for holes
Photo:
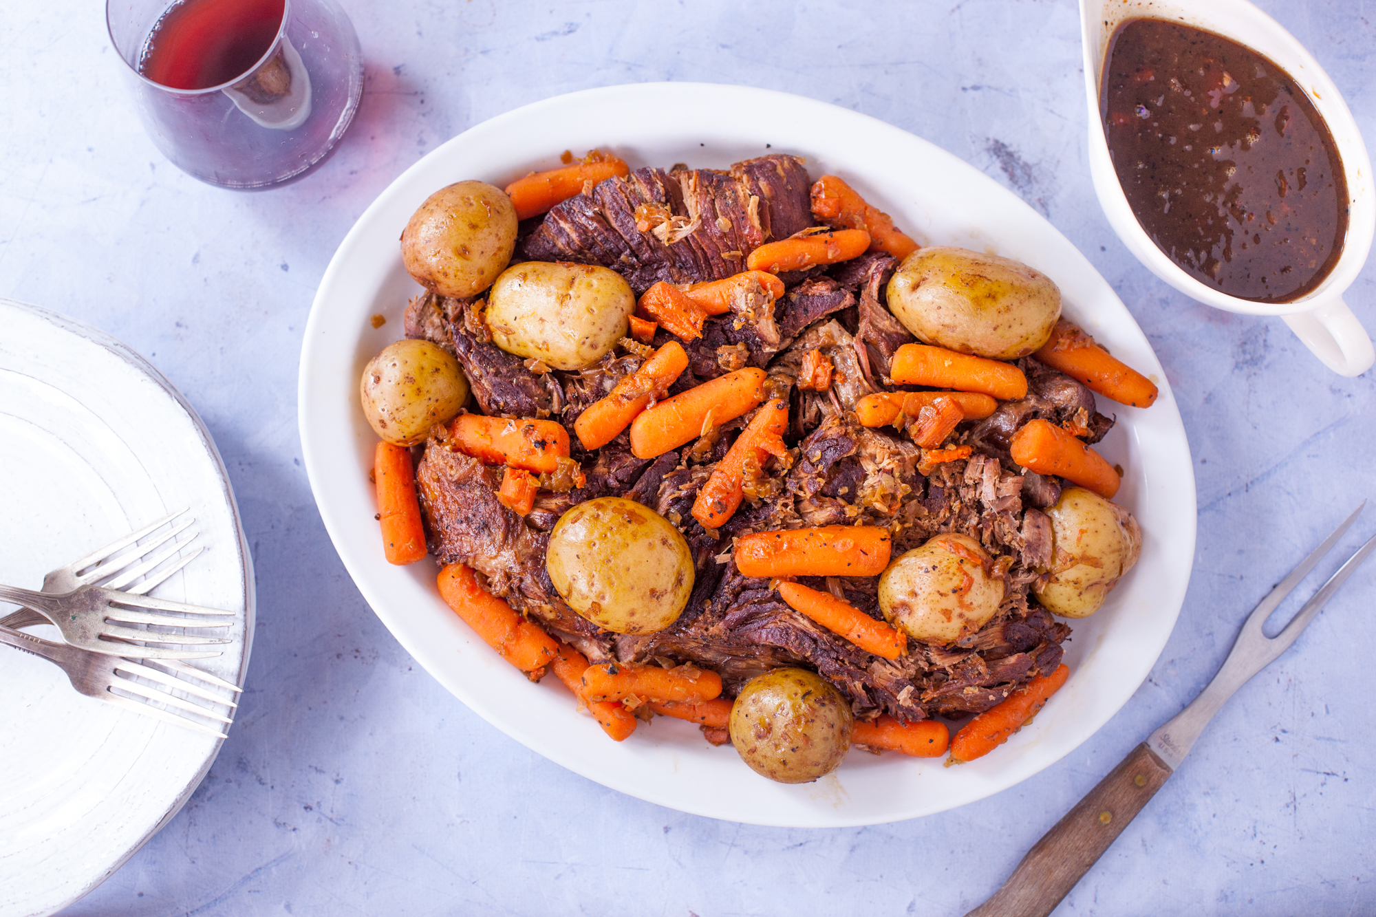
[[[100,4],[0,4],[0,296],[116,335],[182,390],[224,456],[257,570],[248,691],[219,759],[66,914],[960,914],[1207,683],[1281,573],[1376,497],[1376,373],[1335,376],[1280,319],[1190,302],[1109,229],[1088,176],[1073,0],[343,6],[366,59],[348,136],[305,179],[235,193],[183,175],[144,136]],[[1260,6],[1376,143],[1376,7]],[[1131,701],[1036,777],[845,830],[643,803],[469,712],[334,554],[301,467],[296,370],[340,240],[468,127],[648,80],[784,89],[937,143],[1065,233],[1160,355],[1198,482],[1189,595]],[[1376,330],[1376,263],[1347,302]],[[1372,531],[1376,512],[1343,545]],[[1376,563],[1234,697],[1055,913],[1376,913],[1373,599]]]

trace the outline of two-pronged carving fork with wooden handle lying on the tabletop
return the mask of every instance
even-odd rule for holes
[[[1372,551],[1376,551],[1376,538],[1370,538],[1320,587],[1314,598],[1304,603],[1280,633],[1273,637],[1266,636],[1262,629],[1266,620],[1314,569],[1314,565],[1337,544],[1365,505],[1364,500],[1324,544],[1314,548],[1262,599],[1247,617],[1233,650],[1208,687],[1109,771],[1098,786],[1032,845],[999,891],[966,917],[1046,917],[1055,909],[1128,822],[1137,818],[1137,814],[1156,796],[1156,790],[1161,789],[1167,778],[1179,768],[1194,741],[1223,704],[1237,688],[1289,649],[1347,577]]]

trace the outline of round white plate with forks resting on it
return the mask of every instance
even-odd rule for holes
[[[201,420],[103,332],[10,300],[0,328],[0,582],[37,589],[187,507],[205,554],[154,595],[239,611],[223,655],[195,665],[242,684],[253,570]],[[52,913],[109,878],[180,811],[220,742],[83,697],[51,662],[0,646],[0,914]]]

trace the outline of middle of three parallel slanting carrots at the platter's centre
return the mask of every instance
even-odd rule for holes
[[[747,366],[640,412],[630,424],[630,450],[654,458],[735,420],[765,399],[765,370]]]

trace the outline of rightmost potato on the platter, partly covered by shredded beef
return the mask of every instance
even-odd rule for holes
[[[1066,487],[1051,518],[1051,578],[1036,592],[1053,614],[1084,618],[1142,554],[1142,529],[1123,507],[1084,487]]]

